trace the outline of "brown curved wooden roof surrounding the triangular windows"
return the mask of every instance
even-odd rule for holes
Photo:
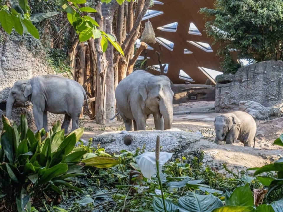
[[[208,38],[204,32],[205,20],[203,15],[198,13],[200,8],[208,7],[213,8],[213,0],[160,0],[164,4],[154,4],[150,10],[163,11],[162,15],[150,18],[150,22],[154,28],[155,37],[162,37],[174,43],[173,51],[162,46],[161,62],[162,64],[168,63],[168,72],[165,74],[174,83],[184,83],[185,80],[179,78],[180,69],[187,73],[195,82],[195,84],[205,84],[208,77],[203,74],[198,67],[205,67],[213,70],[220,71],[219,58],[215,56],[217,49],[212,46],[212,40]],[[147,22],[147,19],[143,21]],[[157,27],[177,22],[176,32],[164,32]],[[189,34],[190,23],[194,23],[198,28],[201,36]],[[208,43],[213,52],[205,52],[204,50],[188,43],[187,41],[204,42]],[[159,52],[159,43],[148,44],[154,50],[147,50],[147,65],[157,65],[158,56],[156,51]],[[192,54],[184,54],[184,49],[188,49]],[[157,71],[149,69],[152,74],[158,74]]]

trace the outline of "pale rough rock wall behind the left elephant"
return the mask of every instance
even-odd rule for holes
[[[47,64],[39,40],[6,34],[0,34],[0,37],[2,39],[0,42],[0,115],[2,116],[6,114],[6,100],[16,81],[39,75],[55,74],[55,72]],[[36,129],[31,102],[14,105],[11,120],[19,123],[21,113],[27,115],[29,127]],[[57,120],[61,120],[62,123],[63,115],[48,114],[49,127]],[[2,119],[0,123],[2,127]]]

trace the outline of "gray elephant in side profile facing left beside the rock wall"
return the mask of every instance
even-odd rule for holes
[[[47,129],[47,111],[65,114],[62,129],[68,132],[72,120],[72,131],[79,126],[83,100],[88,100],[83,87],[76,81],[57,75],[33,77],[19,80],[9,92],[6,117],[10,119],[14,103],[32,102],[32,110],[37,130]],[[88,108],[89,111],[89,108]]]

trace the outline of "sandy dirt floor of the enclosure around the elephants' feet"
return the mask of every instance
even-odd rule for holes
[[[244,147],[238,142],[234,145],[215,145],[214,102],[189,102],[174,104],[174,119],[172,128],[183,131],[200,131],[205,139],[195,145],[211,155],[207,163],[221,164],[227,163],[228,167],[243,169],[249,167],[260,167],[274,162],[283,155],[283,148],[273,145],[273,142],[283,133],[283,117],[268,121],[256,121],[257,133],[255,148]],[[85,127],[82,137],[84,140],[103,132],[124,130],[123,122],[115,120],[105,125],[98,125],[91,120],[82,120],[81,126]],[[147,129],[154,130],[153,117],[147,120]]]

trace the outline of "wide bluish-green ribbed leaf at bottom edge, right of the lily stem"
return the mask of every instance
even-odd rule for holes
[[[215,208],[224,206],[222,201],[213,195],[199,195],[188,193],[179,199],[180,212],[210,212]]]

